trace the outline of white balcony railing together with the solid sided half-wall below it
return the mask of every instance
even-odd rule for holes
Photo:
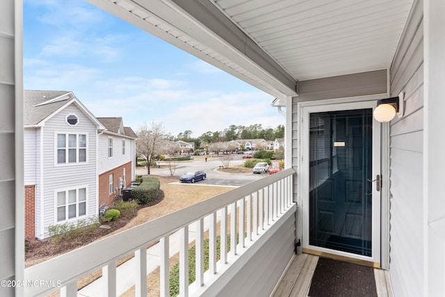
[[[25,296],[49,294],[58,289],[51,284],[61,285],[62,296],[77,296],[77,281],[97,269],[102,269],[99,294],[118,296],[126,289],[118,278],[120,267],[116,263],[131,253],[135,255],[133,275],[127,276],[134,280],[136,296],[147,296],[147,261],[157,261],[155,264],[161,272],[160,295],[170,296],[169,259],[176,252],[179,252],[180,296],[268,295],[294,255],[294,173],[293,169],[278,172],[26,268],[24,279],[47,283],[25,287]],[[218,235],[220,248],[217,250]],[[170,244],[172,236],[179,236],[176,250]],[[205,238],[209,239],[207,271],[204,271]],[[195,282],[188,284],[188,248],[193,241]],[[147,257],[147,246],[154,243],[159,244],[161,250],[156,260]]]

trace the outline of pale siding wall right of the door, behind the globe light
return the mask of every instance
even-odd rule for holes
[[[389,273],[396,296],[423,295],[423,1],[417,1],[391,66],[391,96],[405,115],[390,125]]]

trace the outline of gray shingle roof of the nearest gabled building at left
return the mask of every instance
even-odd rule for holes
[[[65,90],[24,90],[24,125],[38,124],[73,98]]]

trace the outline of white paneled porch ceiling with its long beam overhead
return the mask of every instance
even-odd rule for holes
[[[391,66],[414,0],[88,0],[275,97]]]

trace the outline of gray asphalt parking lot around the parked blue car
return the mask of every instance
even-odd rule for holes
[[[241,155],[232,154],[231,156],[234,157],[234,160],[230,162],[230,166],[241,165],[244,161]],[[204,156],[194,156],[193,161],[177,162],[177,168],[173,176],[177,177],[179,182],[179,176],[184,175],[186,172],[190,170],[202,170],[206,172],[207,178],[195,184],[211,184],[217,186],[243,186],[267,176],[267,174],[219,172],[216,169],[223,165],[221,158],[221,156],[209,156],[206,162]],[[150,173],[152,175],[170,176],[170,170],[163,166],[165,164],[166,163],[161,162],[161,168],[151,167]],[[136,168],[136,174],[147,174],[147,170],[138,167]]]

